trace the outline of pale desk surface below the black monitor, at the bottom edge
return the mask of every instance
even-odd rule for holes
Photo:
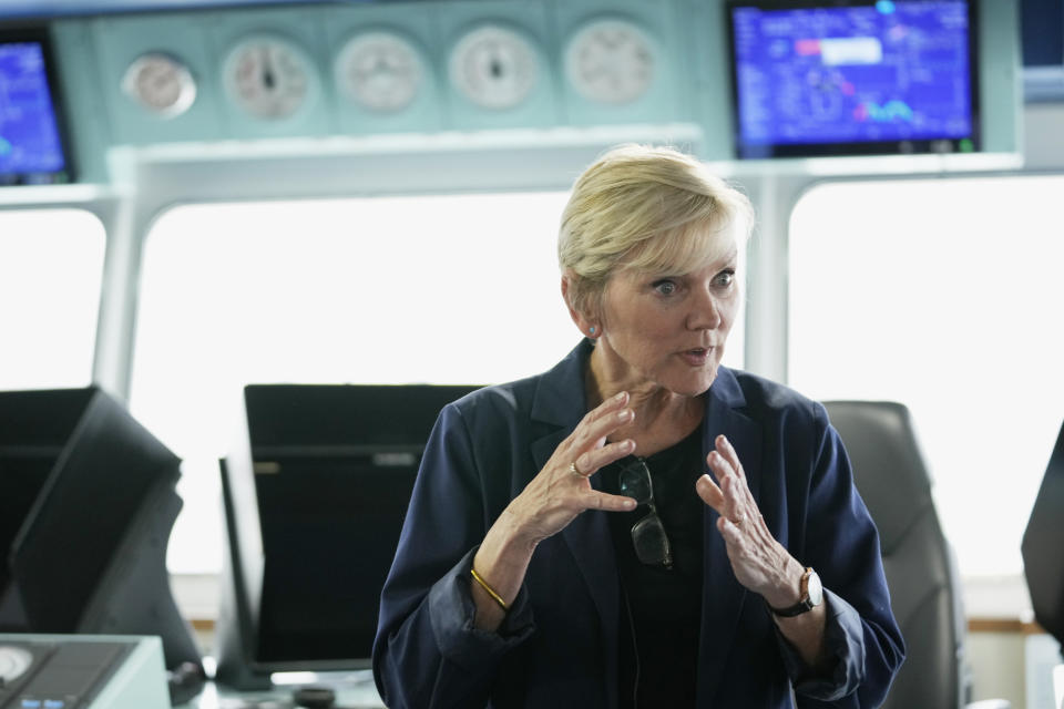
[[[335,709],[383,709],[369,670],[320,675],[313,685],[336,692]],[[291,709],[293,692],[301,685],[282,685],[268,691],[233,691],[207,682],[198,697],[175,709]]]

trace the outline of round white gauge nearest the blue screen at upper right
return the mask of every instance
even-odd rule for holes
[[[655,52],[643,30],[625,20],[594,20],[573,35],[565,73],[576,93],[596,103],[621,104],[646,93]]]

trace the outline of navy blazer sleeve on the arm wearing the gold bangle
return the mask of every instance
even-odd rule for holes
[[[473,627],[470,567],[489,514],[475,463],[461,411],[449,404],[426,446],[380,597],[374,679],[391,709],[484,706],[503,656],[532,634],[523,587],[498,631]]]

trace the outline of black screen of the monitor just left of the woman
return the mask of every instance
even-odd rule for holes
[[[420,455],[270,459],[256,481],[266,553],[259,660],[365,659]]]

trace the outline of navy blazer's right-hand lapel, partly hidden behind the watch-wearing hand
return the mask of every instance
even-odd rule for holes
[[[703,420],[703,460],[714,450],[714,440],[719,434],[727,436],[735,448],[746,473],[747,485],[756,502],[760,502],[761,431],[760,427],[739,413],[746,404],[735,376],[720,368],[717,380],[709,389],[706,415]],[[712,474],[712,473],[710,473]],[[717,531],[720,515],[706,506],[703,517],[703,595],[702,639],[699,641],[698,706],[713,706],[720,686],[722,674],[727,665],[727,655],[736,640],[739,616],[747,593],[732,571],[724,537]],[[756,599],[750,598],[750,602]]]

